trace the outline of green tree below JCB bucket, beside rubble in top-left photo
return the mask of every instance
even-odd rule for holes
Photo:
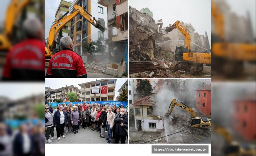
[[[95,53],[103,53],[106,51],[107,46],[105,43],[105,39],[100,37],[95,41],[92,41],[90,43],[86,43],[86,45],[84,45],[84,48],[86,49],[86,51],[90,54],[95,54]]]

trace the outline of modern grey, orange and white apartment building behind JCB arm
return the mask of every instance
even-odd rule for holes
[[[98,0],[74,0],[71,4],[71,8],[74,7],[74,5],[79,5],[90,13],[92,17],[95,17],[96,20],[103,18],[105,27],[107,28],[107,8],[97,2]],[[71,12],[73,11],[74,9],[71,10]],[[75,45],[75,52],[80,55],[89,55],[86,49],[84,49],[87,43],[95,41],[100,37],[107,38],[107,31],[102,33],[85,18],[80,16],[80,14],[71,20],[70,34]],[[84,59],[84,62],[87,62],[87,59]]]

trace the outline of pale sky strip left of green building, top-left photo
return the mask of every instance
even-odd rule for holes
[[[61,0],[45,0],[45,39],[49,36],[49,30],[55,20],[55,13]]]

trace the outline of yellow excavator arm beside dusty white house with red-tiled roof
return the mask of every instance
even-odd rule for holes
[[[174,99],[172,100],[172,102],[171,102],[171,104],[170,104],[170,106],[169,106],[169,108],[168,108],[168,112],[166,113],[166,115],[171,115],[171,114],[172,114],[172,111],[173,111],[173,109],[174,109],[175,106],[178,106],[178,107],[180,107],[180,108],[182,108],[182,109],[188,111],[188,112],[191,114],[191,117],[192,117],[192,118],[194,118],[194,117],[196,116],[195,111],[194,111],[191,107],[189,107],[189,106],[183,104],[181,101],[177,100],[176,98],[174,98]]]

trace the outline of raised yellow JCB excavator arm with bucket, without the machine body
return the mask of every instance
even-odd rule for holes
[[[47,47],[49,51],[52,51],[53,41],[54,41],[58,31],[61,28],[63,28],[63,26],[65,26],[72,18],[77,16],[77,14],[80,14],[82,17],[84,17],[88,22],[90,22],[92,25],[94,25],[100,31],[102,31],[102,32],[105,31],[105,22],[103,19],[96,20],[95,17],[92,17],[92,15],[90,13],[88,13],[83,7],[80,7],[79,5],[74,5],[74,12],[67,15],[66,17],[64,17],[65,15],[63,15],[62,18],[60,18],[58,21],[56,21],[51,26],[50,31],[49,31],[48,47]]]

